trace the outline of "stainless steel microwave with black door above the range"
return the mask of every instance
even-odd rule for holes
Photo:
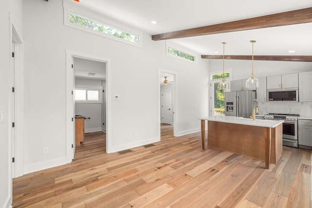
[[[298,90],[269,90],[269,102],[298,102]]]

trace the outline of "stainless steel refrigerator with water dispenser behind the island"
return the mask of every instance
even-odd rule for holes
[[[255,91],[225,92],[225,115],[250,118],[253,114]]]

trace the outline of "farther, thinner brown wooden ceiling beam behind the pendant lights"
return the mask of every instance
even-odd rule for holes
[[[222,55],[201,55],[201,58],[223,59]],[[232,60],[252,60],[252,56],[226,55],[224,59]],[[312,56],[254,56],[254,60],[262,61],[308,61],[312,62]]]

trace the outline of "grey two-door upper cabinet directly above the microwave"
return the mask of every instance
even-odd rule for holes
[[[267,77],[267,89],[298,88],[298,74]]]

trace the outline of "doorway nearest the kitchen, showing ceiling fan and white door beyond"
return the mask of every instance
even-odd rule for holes
[[[177,118],[177,75],[176,72],[158,69],[158,97],[159,97],[159,140],[166,136],[176,136]],[[171,129],[171,135],[167,135]],[[165,131],[165,132],[163,132]]]

